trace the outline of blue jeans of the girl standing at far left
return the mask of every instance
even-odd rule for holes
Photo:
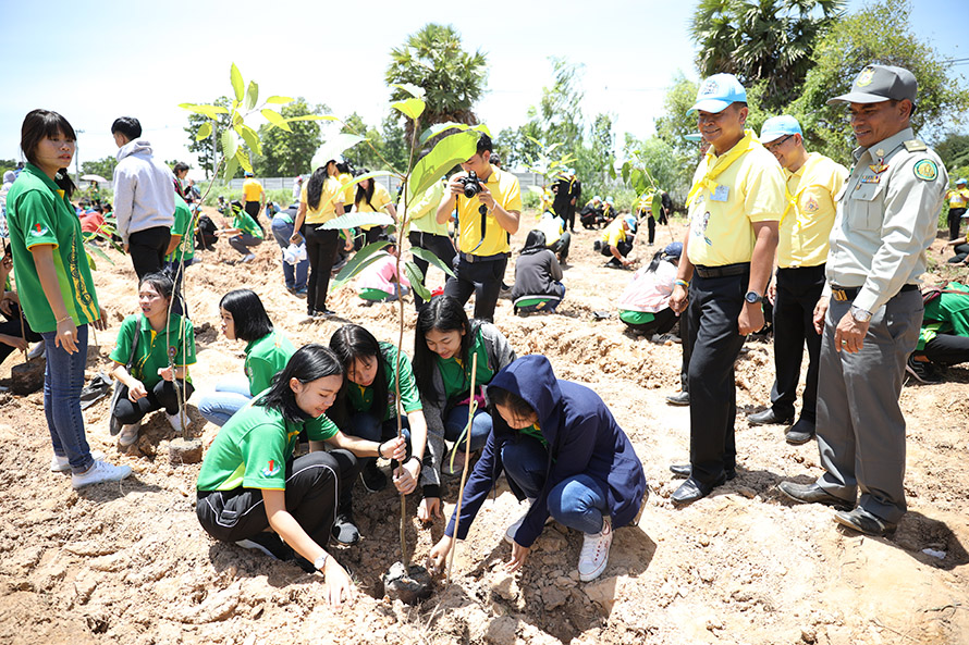
[[[84,434],[81,414],[81,388],[87,362],[87,325],[77,327],[77,351],[68,353],[54,343],[57,332],[40,334],[47,346],[47,370],[44,374],[44,414],[53,454],[68,457],[71,471],[83,473],[94,464]]]

